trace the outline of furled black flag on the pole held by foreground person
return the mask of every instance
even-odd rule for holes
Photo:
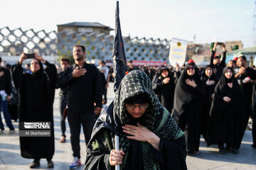
[[[117,91],[122,78],[127,72],[127,61],[124,53],[124,42],[122,40],[121,26],[119,21],[119,1],[117,1],[115,19],[115,37],[112,55],[114,64],[114,92]]]

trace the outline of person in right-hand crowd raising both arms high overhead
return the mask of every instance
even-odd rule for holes
[[[220,60],[220,56],[215,55],[217,45],[223,46],[222,60]],[[215,42],[214,43],[213,51],[210,55],[210,66],[213,67],[213,72],[214,72],[217,80],[219,80],[223,74],[223,68],[225,67],[226,52],[227,51],[225,50],[225,44],[223,42]]]

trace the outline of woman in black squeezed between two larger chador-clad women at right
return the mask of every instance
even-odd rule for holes
[[[206,132],[208,127],[208,120],[210,117],[210,106],[213,101],[213,92],[217,84],[217,79],[213,73],[213,68],[210,65],[207,65],[203,75],[201,77],[203,85],[206,89],[206,96],[203,100],[203,112],[201,118],[201,134],[206,139]]]

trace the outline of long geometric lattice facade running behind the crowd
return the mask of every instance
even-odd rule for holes
[[[169,57],[171,40],[124,37],[127,60],[166,61]],[[95,33],[56,33],[33,29],[10,30],[0,28],[0,52],[20,55],[21,52],[38,52],[41,55],[72,55],[75,44],[85,45],[87,60],[112,60],[113,35]]]

